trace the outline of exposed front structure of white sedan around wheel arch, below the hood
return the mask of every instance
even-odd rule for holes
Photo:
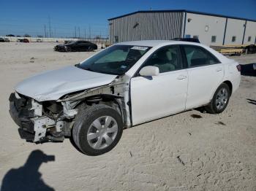
[[[113,80],[109,85],[69,93],[57,101],[36,101],[17,92],[10,95],[10,114],[19,126],[21,139],[34,143],[64,141],[72,135],[72,125],[80,106],[107,104],[116,108],[131,126],[129,109],[129,80]]]

